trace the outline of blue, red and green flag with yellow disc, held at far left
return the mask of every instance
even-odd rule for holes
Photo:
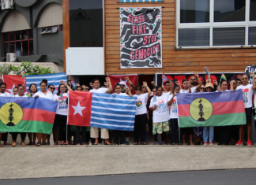
[[[58,103],[46,98],[0,99],[0,131],[51,134]]]

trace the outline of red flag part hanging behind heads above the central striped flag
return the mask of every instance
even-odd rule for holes
[[[134,83],[134,87],[137,86],[137,74],[136,75],[107,75],[109,79],[111,80],[112,87],[114,89],[116,83],[123,82],[126,84],[126,87],[130,86],[130,83],[128,83],[128,80],[125,79],[125,77],[128,76],[129,80]]]

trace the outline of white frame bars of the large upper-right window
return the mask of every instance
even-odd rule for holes
[[[176,43],[177,49],[209,49],[209,48],[238,48],[252,47],[249,45],[249,28],[256,27],[256,20],[250,21],[250,0],[246,0],[245,21],[214,22],[214,0],[209,0],[209,22],[208,23],[180,23],[180,0],[176,1]],[[180,28],[209,28],[209,46],[179,46]],[[245,45],[213,46],[213,28],[245,28]]]

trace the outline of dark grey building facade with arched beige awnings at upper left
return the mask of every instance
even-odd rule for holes
[[[55,62],[63,66],[62,0],[16,0],[0,10],[0,60]]]

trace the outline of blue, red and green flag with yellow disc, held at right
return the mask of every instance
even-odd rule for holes
[[[177,93],[179,127],[213,127],[246,124],[242,90]]]

